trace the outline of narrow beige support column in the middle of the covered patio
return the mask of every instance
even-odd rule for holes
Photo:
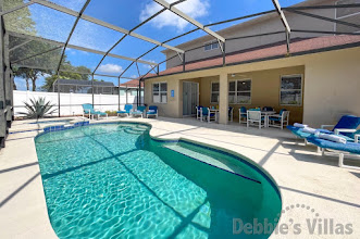
[[[227,125],[228,122],[228,81],[227,74],[220,74],[219,89],[219,123]]]

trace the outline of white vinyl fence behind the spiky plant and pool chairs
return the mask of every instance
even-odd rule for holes
[[[58,110],[58,92],[40,92],[40,91],[21,91],[14,90],[14,113],[15,116],[21,116],[21,112],[26,112],[24,102],[30,102],[30,99],[45,97],[47,101],[55,104]],[[127,98],[127,99],[126,99]],[[126,101],[127,100],[127,101]],[[91,103],[92,95],[89,93],[60,93],[60,115],[80,115],[83,114],[84,103]],[[126,103],[136,105],[137,97],[127,95],[120,97],[120,109],[123,110]],[[144,102],[141,97],[141,102]],[[95,110],[99,111],[117,111],[119,96],[116,95],[94,95]],[[55,111],[52,115],[58,116]]]

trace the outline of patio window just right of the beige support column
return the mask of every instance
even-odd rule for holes
[[[251,79],[228,83],[228,103],[251,103]]]

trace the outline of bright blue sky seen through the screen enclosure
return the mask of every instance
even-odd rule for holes
[[[85,0],[51,1],[75,11],[79,11],[85,3]],[[175,0],[167,1],[173,2]],[[280,0],[280,3],[283,7],[291,5],[298,2],[300,2],[300,0]],[[132,29],[151,14],[161,10],[161,8],[162,7],[151,0],[91,0],[85,11],[85,14],[125,29]],[[214,23],[274,9],[271,0],[187,0],[179,3],[177,8],[202,24]],[[36,23],[36,29],[39,36],[58,41],[66,40],[75,22],[75,17],[38,4],[30,5],[29,10],[34,22]],[[212,29],[219,30],[237,23],[214,26]],[[137,28],[135,33],[159,41],[164,41],[194,28],[195,26],[191,24],[185,22],[173,13],[165,11],[144,26]],[[176,46],[203,35],[204,33],[198,30],[194,34],[171,41],[169,45]],[[100,51],[108,51],[122,36],[123,35],[121,33],[80,20],[70,40],[70,43],[92,48]],[[111,52],[114,54],[137,58],[152,47],[154,47],[154,45],[141,41],[134,37],[126,37]],[[161,62],[165,60],[164,55],[161,53],[162,50],[164,49],[158,48],[156,51],[149,53],[149,55],[145,55],[142,59],[151,62]],[[84,65],[90,70],[94,70],[101,59],[101,55],[99,54],[82,52],[73,49],[67,49],[66,55],[67,60],[70,60],[73,65]],[[129,64],[131,62],[128,61],[108,56],[100,65],[97,73],[119,76]],[[165,64],[163,64],[161,70],[164,70],[164,67]],[[141,74],[147,73],[149,71],[149,65],[139,64],[139,71]],[[133,67],[124,74],[124,76],[137,77],[138,73],[136,65],[134,64]],[[99,76],[96,78],[117,84],[116,78]],[[126,80],[123,79],[122,81]],[[24,79],[16,78],[15,83],[17,89],[25,89]],[[41,86],[42,84],[44,78],[40,78],[37,85]]]

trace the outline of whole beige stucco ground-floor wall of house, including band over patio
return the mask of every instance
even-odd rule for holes
[[[294,67],[296,66],[296,67]],[[211,70],[188,72],[182,74],[174,74],[167,76],[161,76],[157,78],[146,79],[146,97],[145,101],[147,104],[152,104],[151,99],[151,84],[154,81],[167,81],[167,104],[158,104],[160,108],[160,114],[171,117],[182,117],[182,102],[179,101],[179,83],[184,79],[196,79],[200,80],[200,102],[203,104],[210,101],[210,96],[206,96],[206,92],[210,92],[210,87],[207,89],[206,77],[212,76],[213,79],[220,74],[233,74],[233,73],[253,73],[260,71],[275,70],[287,67],[302,67],[303,68],[303,123],[310,124],[314,127],[321,124],[334,124],[342,113],[350,112],[356,115],[360,115],[360,47],[349,48],[343,50],[334,50],[321,53],[313,53],[299,56],[289,56],[284,59],[256,62],[248,64],[232,65],[226,67],[216,67]],[[301,70],[301,68],[297,68]],[[286,70],[293,71],[293,70]],[[284,70],[284,73],[286,72]],[[268,72],[272,75],[268,80],[280,80],[275,77],[275,72]],[[266,73],[259,73],[261,78],[266,78]],[[278,74],[278,73],[277,73]],[[268,77],[270,78],[270,77]],[[260,81],[259,81],[260,84]],[[277,83],[280,84],[280,83]],[[257,95],[264,95],[265,99],[271,100],[274,105],[275,91],[270,92],[271,88],[278,90],[278,86],[259,85],[257,86],[259,91]],[[170,98],[170,91],[175,90],[175,97]],[[255,87],[253,87],[255,89]],[[272,91],[273,89],[271,89]],[[276,93],[277,95],[277,93]],[[255,98],[253,98],[255,99]],[[260,98],[259,98],[260,100]],[[278,102],[278,101],[277,101]],[[253,105],[255,102],[252,102]],[[256,101],[256,103],[259,103]],[[261,105],[262,106],[262,105]],[[290,117],[296,116],[296,110],[290,110]],[[163,114],[166,112],[166,114]]]

